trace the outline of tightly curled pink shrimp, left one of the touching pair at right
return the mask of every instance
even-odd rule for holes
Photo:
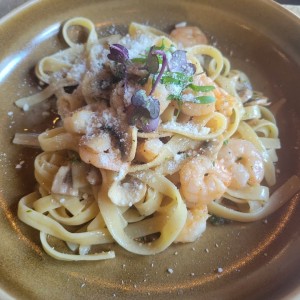
[[[219,199],[230,183],[230,173],[218,161],[196,156],[180,170],[180,192],[188,208]]]

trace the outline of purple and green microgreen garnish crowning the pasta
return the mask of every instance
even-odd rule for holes
[[[198,86],[193,83],[196,67],[188,62],[186,51],[176,50],[173,45],[167,47],[164,41],[160,46],[152,46],[146,55],[133,59],[129,59],[128,50],[120,44],[110,45],[109,50],[110,53],[107,57],[115,62],[112,71],[116,78],[124,79],[125,89],[127,88],[127,73],[130,64],[140,64],[140,70],[147,71],[147,74],[138,80],[139,84],[145,84],[149,77],[152,79],[149,95],[146,95],[142,89],[137,90],[131,98],[131,105],[127,107],[129,124],[136,125],[144,132],[154,131],[159,124],[160,105],[159,101],[152,96],[158,83],[169,86],[171,94],[168,99],[178,102],[178,113],[183,101],[200,104],[215,101],[213,96],[201,94],[192,96],[192,99],[183,98],[183,91],[187,88],[200,93],[211,92],[215,88],[214,86]]]

